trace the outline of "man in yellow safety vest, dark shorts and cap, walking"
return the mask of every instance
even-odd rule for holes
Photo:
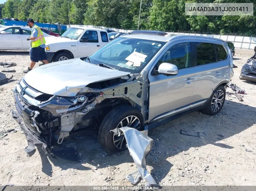
[[[40,27],[35,25],[35,22],[32,18],[27,20],[27,25],[32,28],[31,37],[28,37],[27,40],[31,40],[30,43],[30,65],[28,69],[23,70],[24,73],[28,73],[32,68],[35,66],[35,62],[39,60],[43,60],[45,64],[48,64],[48,60],[45,54],[45,37],[43,32],[41,31]]]

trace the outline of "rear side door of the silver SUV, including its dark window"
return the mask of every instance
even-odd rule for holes
[[[223,45],[211,42],[194,42],[195,76],[191,103],[211,97],[214,89],[228,74],[228,55]]]

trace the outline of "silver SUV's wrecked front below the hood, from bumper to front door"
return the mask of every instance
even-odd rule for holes
[[[17,113],[12,110],[12,116],[27,138],[28,156],[35,153],[37,146],[45,153],[79,161],[76,146],[66,137],[98,128],[108,111],[122,101],[135,107],[143,105],[140,96],[145,82],[130,78],[91,83],[72,97],[42,93],[22,79],[14,89]]]

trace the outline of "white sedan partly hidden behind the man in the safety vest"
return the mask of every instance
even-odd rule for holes
[[[0,28],[0,50],[29,50],[31,28],[19,26],[4,26]],[[43,33],[44,37],[50,35]]]

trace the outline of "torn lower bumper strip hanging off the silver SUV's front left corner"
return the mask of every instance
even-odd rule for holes
[[[12,110],[12,117],[17,121],[17,123],[20,125],[22,131],[24,132],[24,135],[27,139],[28,146],[24,149],[27,153],[28,157],[31,157],[35,153],[35,146],[38,148],[42,148],[42,151],[47,153],[47,145],[45,142],[38,139],[36,135],[34,135],[28,127],[25,125],[25,123],[22,121],[20,114],[16,113],[14,110]]]

